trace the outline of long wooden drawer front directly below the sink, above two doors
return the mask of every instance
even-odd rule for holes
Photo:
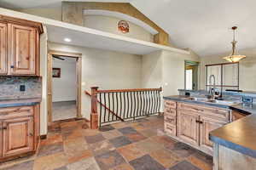
[[[220,109],[218,107],[208,107],[208,106],[201,106],[201,105],[189,105],[184,103],[178,103],[177,109],[178,111],[192,111],[200,115],[215,116],[215,117],[218,117],[218,119],[223,120],[225,122],[229,122],[230,120],[230,111]]]

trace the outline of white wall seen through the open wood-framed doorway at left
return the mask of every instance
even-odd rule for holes
[[[76,59],[62,57],[53,58],[53,68],[61,68],[61,77],[52,78],[52,101],[72,101],[77,97]]]

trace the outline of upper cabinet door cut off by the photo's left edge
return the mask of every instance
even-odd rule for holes
[[[0,75],[7,74],[7,24],[0,23]]]

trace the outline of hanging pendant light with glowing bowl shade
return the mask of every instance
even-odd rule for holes
[[[232,52],[231,52],[231,54],[229,56],[223,58],[223,59],[226,59],[226,60],[228,60],[228,61],[230,61],[232,63],[238,62],[239,60],[246,58],[245,55],[240,55],[237,52],[237,49],[236,49],[236,43],[237,42],[235,40],[235,31],[236,31],[236,29],[237,29],[236,26],[232,27],[232,30],[233,30],[233,41],[231,42],[231,44],[232,44]]]

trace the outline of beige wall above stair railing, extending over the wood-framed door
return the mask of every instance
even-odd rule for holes
[[[82,115],[90,119],[90,98],[84,90],[141,88],[142,57],[96,48],[82,48],[49,42],[50,50],[82,54]]]

